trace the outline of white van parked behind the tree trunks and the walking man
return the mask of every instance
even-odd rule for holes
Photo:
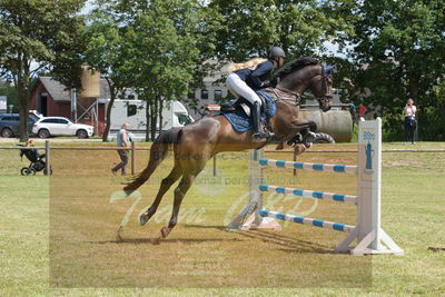
[[[130,125],[129,131],[136,141],[144,141],[147,130],[146,101],[116,99],[111,108],[111,127],[108,133],[108,140],[113,141],[123,122]],[[162,109],[162,130],[184,127],[195,121],[186,107],[179,101],[169,101]],[[157,131],[159,132],[159,121],[157,121]]]

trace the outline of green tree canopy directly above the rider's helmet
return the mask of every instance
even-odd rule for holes
[[[217,55],[235,61],[265,57],[273,46],[281,47],[290,59],[315,56],[323,43],[350,26],[343,17],[327,13],[334,1],[214,0],[218,12]]]

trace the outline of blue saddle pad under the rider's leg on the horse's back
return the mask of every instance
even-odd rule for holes
[[[256,91],[260,97],[265,98],[264,112],[261,113],[261,120],[267,120],[275,116],[277,112],[277,106],[274,100],[266,92],[261,90]],[[235,131],[245,132],[254,129],[254,121],[251,117],[248,117],[241,107],[237,107],[233,112],[222,112],[222,116],[231,123]]]

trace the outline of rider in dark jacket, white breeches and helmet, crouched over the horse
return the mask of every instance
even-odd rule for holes
[[[245,98],[253,105],[254,138],[257,139],[268,138],[269,133],[260,131],[261,99],[255,90],[270,86],[266,79],[275,68],[284,65],[286,58],[285,51],[278,47],[271,48],[267,56],[268,60],[263,61],[255,69],[243,68],[227,77],[227,88],[230,92],[237,98]]]

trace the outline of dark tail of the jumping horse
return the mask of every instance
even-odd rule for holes
[[[159,164],[166,158],[168,148],[174,143],[178,143],[180,136],[180,128],[174,128],[160,132],[150,148],[150,159],[146,169],[144,169],[142,172],[140,172],[131,182],[123,187],[123,190],[127,195],[130,195],[150,178],[156,168],[158,168]]]

